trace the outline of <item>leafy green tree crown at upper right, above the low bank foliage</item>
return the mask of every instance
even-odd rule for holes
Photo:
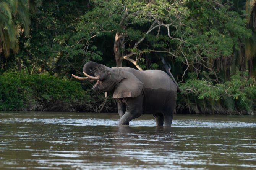
[[[226,73],[224,79],[229,79],[231,64],[222,61],[235,62],[234,49],[239,49],[241,39],[251,37],[246,20],[230,10],[230,1],[189,0],[186,5],[190,14],[181,21],[186,26],[174,32],[185,40],[180,42],[183,55],[176,60],[193,66],[199,79],[211,82],[211,74],[220,70]],[[215,79],[219,81],[217,74]]]

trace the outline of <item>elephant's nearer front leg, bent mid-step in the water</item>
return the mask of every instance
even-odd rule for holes
[[[138,118],[142,114],[143,97],[139,95],[138,97],[128,97],[126,98],[126,111],[125,114],[120,118],[120,125],[129,125],[132,119]]]

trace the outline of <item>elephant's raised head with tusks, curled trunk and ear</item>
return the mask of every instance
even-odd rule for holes
[[[97,80],[92,89],[113,92],[114,98],[137,97],[143,88],[143,83],[136,76],[122,68],[109,68],[96,62],[87,62],[83,71],[87,77],[72,76],[80,80]]]

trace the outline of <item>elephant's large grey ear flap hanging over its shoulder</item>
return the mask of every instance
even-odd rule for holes
[[[128,71],[124,71],[124,76],[120,83],[115,87],[113,94],[114,98],[124,98],[124,97],[137,97],[141,94],[143,83]]]

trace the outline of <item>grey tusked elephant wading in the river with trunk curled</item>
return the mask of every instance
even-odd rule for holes
[[[92,89],[105,92],[105,97],[107,93],[113,94],[120,125],[129,125],[131,120],[146,113],[153,114],[156,126],[171,126],[179,89],[166,72],[110,68],[90,61],[84,64],[83,73],[86,77],[72,76],[80,80],[96,80]]]

